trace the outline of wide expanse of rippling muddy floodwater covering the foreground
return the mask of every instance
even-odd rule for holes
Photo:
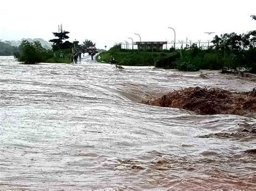
[[[125,66],[124,66],[125,67]],[[207,78],[201,78],[203,73]],[[24,65],[0,57],[1,189],[255,189],[256,119],[139,104],[181,87],[251,91],[218,71],[178,72],[82,59]]]

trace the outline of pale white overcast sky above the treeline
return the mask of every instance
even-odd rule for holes
[[[53,38],[58,24],[70,41],[90,39],[98,48],[127,37],[139,41],[210,40],[227,32],[256,30],[255,0],[8,0],[0,1],[0,39]],[[215,32],[207,35],[204,32]]]

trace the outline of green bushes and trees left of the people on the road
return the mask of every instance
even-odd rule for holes
[[[53,38],[49,40],[52,43],[52,50],[46,50],[42,47],[39,41],[29,42],[22,40],[18,50],[14,53],[15,58],[19,62],[25,64],[35,63],[66,63],[70,64],[72,58],[78,57],[78,53],[85,53],[90,46],[95,46],[91,40],[85,40],[82,45],[79,45],[77,40],[72,43],[69,38],[68,31],[53,32]]]

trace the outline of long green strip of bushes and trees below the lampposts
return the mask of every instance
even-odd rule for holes
[[[154,65],[181,71],[227,69],[256,73],[256,31],[241,35],[225,33],[215,36],[212,44],[207,47],[192,44],[184,49],[160,51],[126,50],[121,49],[121,44],[116,44],[109,51],[100,53],[97,59],[109,63],[110,56],[113,56],[120,65]]]

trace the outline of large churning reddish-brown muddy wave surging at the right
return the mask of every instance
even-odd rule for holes
[[[174,107],[199,114],[238,114],[256,117],[256,90],[231,92],[221,88],[188,87],[163,95],[159,99],[143,100],[143,104]]]

